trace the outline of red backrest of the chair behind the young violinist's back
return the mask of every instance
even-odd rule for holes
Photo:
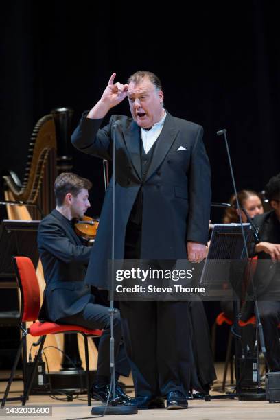
[[[21,321],[34,321],[40,310],[40,289],[34,265],[28,257],[14,257],[13,261],[21,291]]]

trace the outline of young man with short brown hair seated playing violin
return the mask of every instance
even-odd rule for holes
[[[91,254],[73,230],[73,220],[82,218],[90,207],[91,182],[72,173],[60,174],[54,183],[56,209],[41,222],[38,250],[43,264],[46,288],[40,320],[103,329],[98,346],[96,382],[91,388],[95,399],[106,402],[110,395],[110,315],[108,307],[98,305],[89,285],[84,284],[86,265]],[[94,249],[93,249],[94,252]],[[129,366],[121,343],[121,318],[114,314],[116,381],[128,375]],[[116,383],[118,404],[130,404],[130,397]]]

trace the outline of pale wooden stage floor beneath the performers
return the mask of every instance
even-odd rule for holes
[[[221,377],[223,364],[216,364],[216,371],[218,380],[215,381],[211,395],[218,395],[217,388],[221,386]],[[4,373],[1,371],[1,376]],[[127,385],[132,384],[131,378],[121,378]],[[0,382],[0,397],[3,397],[3,390],[5,388],[5,382]],[[229,390],[229,388],[227,388]],[[16,381],[12,384],[12,391],[10,397],[16,397],[20,395],[22,390],[22,382]],[[132,392],[128,393],[132,396]],[[83,419],[83,418],[94,418],[91,416],[91,408],[86,404],[86,395],[80,396],[81,400],[73,400],[73,402],[67,401],[56,401],[48,396],[32,395],[30,400],[27,401],[26,407],[31,406],[51,406],[52,415],[51,417],[38,416],[27,416],[23,419]],[[20,406],[19,401],[8,402],[6,407]],[[93,401],[93,406],[100,405],[96,401]],[[4,409],[5,410],[5,409]],[[3,413],[4,414],[4,413]],[[124,418],[126,420],[141,418],[160,420],[160,419],[195,419],[195,420],[279,420],[280,419],[280,404],[269,404],[268,401],[238,401],[237,399],[218,399],[209,402],[205,401],[189,401],[188,410],[139,410],[137,415],[126,415],[117,416],[116,419]],[[0,419],[19,419],[19,415],[2,415],[0,410]]]

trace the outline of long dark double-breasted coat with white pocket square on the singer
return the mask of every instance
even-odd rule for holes
[[[84,153],[112,159],[116,131],[115,259],[124,258],[126,226],[141,189],[143,197],[141,259],[185,259],[187,241],[207,244],[211,185],[210,169],[197,124],[167,113],[156,141],[148,174],[141,174],[141,133],[132,118],[113,115],[82,117],[72,143]],[[179,150],[180,149],[180,150]],[[86,273],[86,283],[106,288],[107,261],[112,252],[112,182],[105,196],[100,225]]]

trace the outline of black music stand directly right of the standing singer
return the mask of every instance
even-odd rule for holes
[[[243,232],[242,232],[243,226]],[[214,285],[217,280],[217,270],[215,270],[215,261],[219,260],[231,260],[229,264],[229,283],[231,284],[232,297],[233,297],[233,327],[231,333],[235,337],[235,377],[236,377],[236,392],[225,395],[210,396],[210,399],[220,398],[234,398],[239,397],[240,399],[266,399],[266,394],[261,389],[260,375],[259,375],[259,351],[258,351],[258,339],[257,339],[257,393],[242,393],[240,369],[237,362],[237,356],[240,353],[239,340],[240,338],[240,326],[238,325],[238,313],[239,313],[239,299],[242,294],[241,285],[244,273],[244,269],[247,265],[248,248],[254,242],[255,231],[250,223],[244,224],[215,224],[212,235],[211,243],[209,246],[209,253],[205,261],[205,266],[202,270],[200,284],[207,285],[211,290],[211,285]],[[245,241],[244,241],[245,239]],[[243,263],[242,263],[243,261]],[[237,272],[237,281],[235,281],[235,273]],[[223,270],[224,274],[224,270]],[[221,285],[218,279],[218,284]],[[216,291],[214,292],[216,294]],[[211,292],[210,292],[211,295]],[[217,296],[217,294],[216,294]],[[257,336],[257,330],[256,330]],[[209,399],[207,399],[209,401]]]

